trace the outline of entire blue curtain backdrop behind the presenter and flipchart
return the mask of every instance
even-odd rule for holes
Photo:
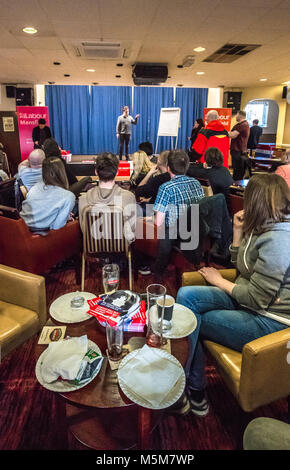
[[[137,126],[132,126],[130,153],[144,141],[151,142],[155,150],[160,109],[171,107],[181,108],[177,147],[187,149],[193,122],[203,116],[207,106],[207,95],[207,88],[177,88],[174,102],[174,89],[168,87],[92,86],[89,90],[88,86],[45,86],[54,138],[66,150],[80,155],[118,152],[116,123],[124,105],[133,117],[140,114]],[[170,148],[171,138],[160,137],[157,152]]]

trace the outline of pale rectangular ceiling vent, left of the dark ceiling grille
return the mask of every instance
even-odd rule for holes
[[[85,59],[118,59],[124,52],[120,43],[82,42],[75,46],[76,55]]]

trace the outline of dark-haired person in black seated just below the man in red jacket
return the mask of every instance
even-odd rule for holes
[[[216,147],[210,147],[204,154],[205,163],[191,163],[187,175],[194,178],[208,179],[214,194],[222,193],[228,198],[230,186],[234,180],[229,170],[223,166],[223,154]]]

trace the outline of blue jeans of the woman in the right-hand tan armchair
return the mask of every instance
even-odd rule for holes
[[[187,386],[196,390],[206,386],[200,336],[242,351],[246,343],[287,328],[283,323],[241,307],[218,287],[182,287],[176,302],[192,310],[197,319],[197,327],[189,336],[190,351],[185,366]]]

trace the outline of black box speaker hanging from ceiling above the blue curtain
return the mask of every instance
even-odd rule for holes
[[[132,78],[135,85],[158,85],[166,82],[168,67],[165,64],[136,64]]]

